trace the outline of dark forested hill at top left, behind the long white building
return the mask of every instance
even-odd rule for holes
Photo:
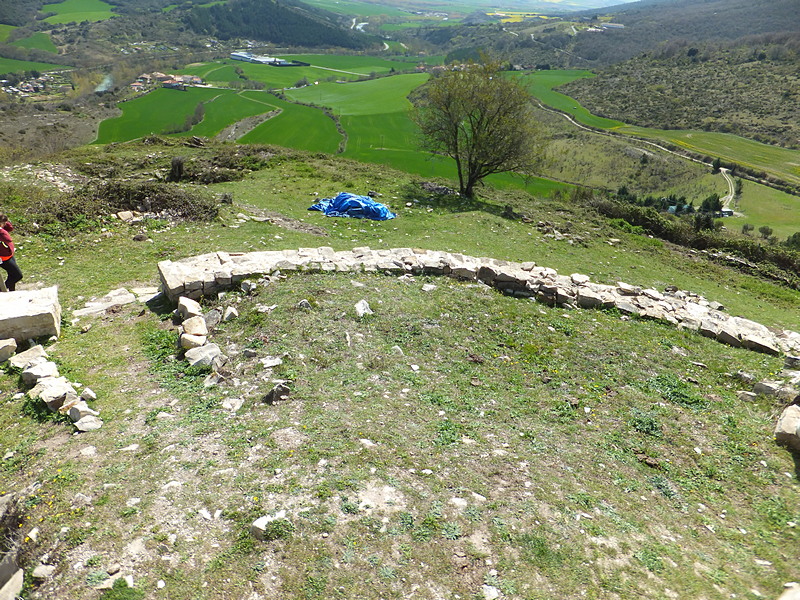
[[[251,38],[285,46],[338,46],[360,49],[374,40],[353,32],[334,18],[299,2],[232,0],[196,7],[185,22],[197,33],[226,40]]]

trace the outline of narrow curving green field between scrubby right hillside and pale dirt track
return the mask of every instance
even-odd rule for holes
[[[544,104],[572,115],[577,121],[589,127],[663,140],[692,152],[719,156],[723,160],[764,171],[786,181],[800,183],[800,152],[797,150],[769,146],[727,133],[648,129],[626,125],[620,121],[595,116],[573,98],[553,91],[554,87],[568,81],[591,76],[589,71],[538,71],[522,77],[530,92]]]

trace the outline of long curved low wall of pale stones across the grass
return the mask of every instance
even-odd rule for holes
[[[581,274],[559,275],[533,262],[515,263],[463,254],[368,247],[336,252],[330,247],[298,250],[202,254],[158,264],[162,290],[176,303],[180,297],[215,296],[248,278],[303,272],[375,272],[446,275],[480,281],[506,294],[536,298],[570,308],[616,308],[620,312],[672,323],[722,343],[767,354],[800,354],[800,333],[765,327],[724,312],[716,302],[668,288],[664,292],[619,282],[593,283]]]

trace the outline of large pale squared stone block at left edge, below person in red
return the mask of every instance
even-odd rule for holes
[[[0,338],[22,341],[60,334],[57,287],[5,292],[0,297]]]

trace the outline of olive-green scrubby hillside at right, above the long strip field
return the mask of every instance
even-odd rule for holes
[[[796,34],[723,45],[671,42],[561,88],[597,115],[800,146]]]

